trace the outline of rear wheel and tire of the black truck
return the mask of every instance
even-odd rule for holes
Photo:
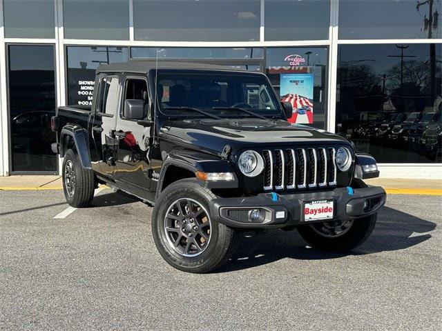
[[[93,171],[83,168],[78,154],[71,149],[64,155],[62,179],[64,197],[70,206],[82,208],[90,205],[95,190]]]

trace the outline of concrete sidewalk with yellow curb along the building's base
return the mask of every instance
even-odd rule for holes
[[[435,179],[376,178],[366,181],[369,185],[385,188],[390,194],[441,195],[442,181]],[[61,190],[59,176],[21,175],[0,177],[0,190]]]

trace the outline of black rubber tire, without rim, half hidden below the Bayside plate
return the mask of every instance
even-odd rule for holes
[[[318,230],[325,223],[305,224],[298,226],[298,232],[309,246],[328,252],[348,252],[361,245],[376,225],[376,214],[352,221],[343,234],[328,236]]]

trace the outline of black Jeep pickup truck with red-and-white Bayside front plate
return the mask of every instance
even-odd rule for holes
[[[187,272],[220,268],[241,230],[298,230],[345,251],[367,239],[385,191],[376,161],[335,134],[291,124],[265,74],[180,61],[99,66],[91,108],[52,118],[68,203],[100,183],[154,205],[162,257]]]

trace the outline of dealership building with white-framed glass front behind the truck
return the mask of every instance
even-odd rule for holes
[[[50,117],[133,58],[264,72],[296,123],[442,179],[442,0],[0,0],[0,175],[58,174]],[[287,97],[287,95],[289,97]]]

